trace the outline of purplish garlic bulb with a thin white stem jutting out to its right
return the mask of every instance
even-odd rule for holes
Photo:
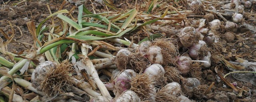
[[[183,76],[188,75],[188,72],[190,71],[190,66],[192,64],[192,59],[187,56],[181,56],[179,57],[178,64],[180,73],[182,73]]]

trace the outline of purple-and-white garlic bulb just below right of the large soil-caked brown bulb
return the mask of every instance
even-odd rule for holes
[[[192,59],[197,59],[205,53],[207,45],[204,41],[200,40],[198,44],[193,44],[188,49],[190,57]]]

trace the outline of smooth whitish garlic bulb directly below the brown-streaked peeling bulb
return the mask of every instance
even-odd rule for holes
[[[153,64],[150,67],[148,67],[147,69],[145,69],[145,71],[143,73],[147,73],[149,75],[149,77],[158,80],[159,77],[162,77],[164,75],[165,71],[164,71],[164,68],[162,67],[162,65]]]

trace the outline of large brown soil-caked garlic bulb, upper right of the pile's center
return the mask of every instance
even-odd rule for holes
[[[184,27],[179,37],[183,46],[190,47],[193,43],[198,43],[200,32],[196,31],[194,27]]]

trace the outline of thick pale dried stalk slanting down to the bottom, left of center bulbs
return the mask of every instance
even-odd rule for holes
[[[86,47],[81,46],[81,50],[82,52],[84,52],[86,50]],[[98,88],[100,89],[100,92],[102,94],[102,96],[106,97],[106,98],[111,98],[108,89],[106,88],[106,86],[103,84],[103,82],[100,80],[97,70],[95,69],[92,61],[90,61],[90,59],[86,56],[87,53],[82,53],[84,56],[84,58],[82,59],[83,63],[86,65],[86,67],[88,68],[88,73],[90,74],[90,76],[92,76],[93,80],[95,81],[96,85],[98,86]]]

